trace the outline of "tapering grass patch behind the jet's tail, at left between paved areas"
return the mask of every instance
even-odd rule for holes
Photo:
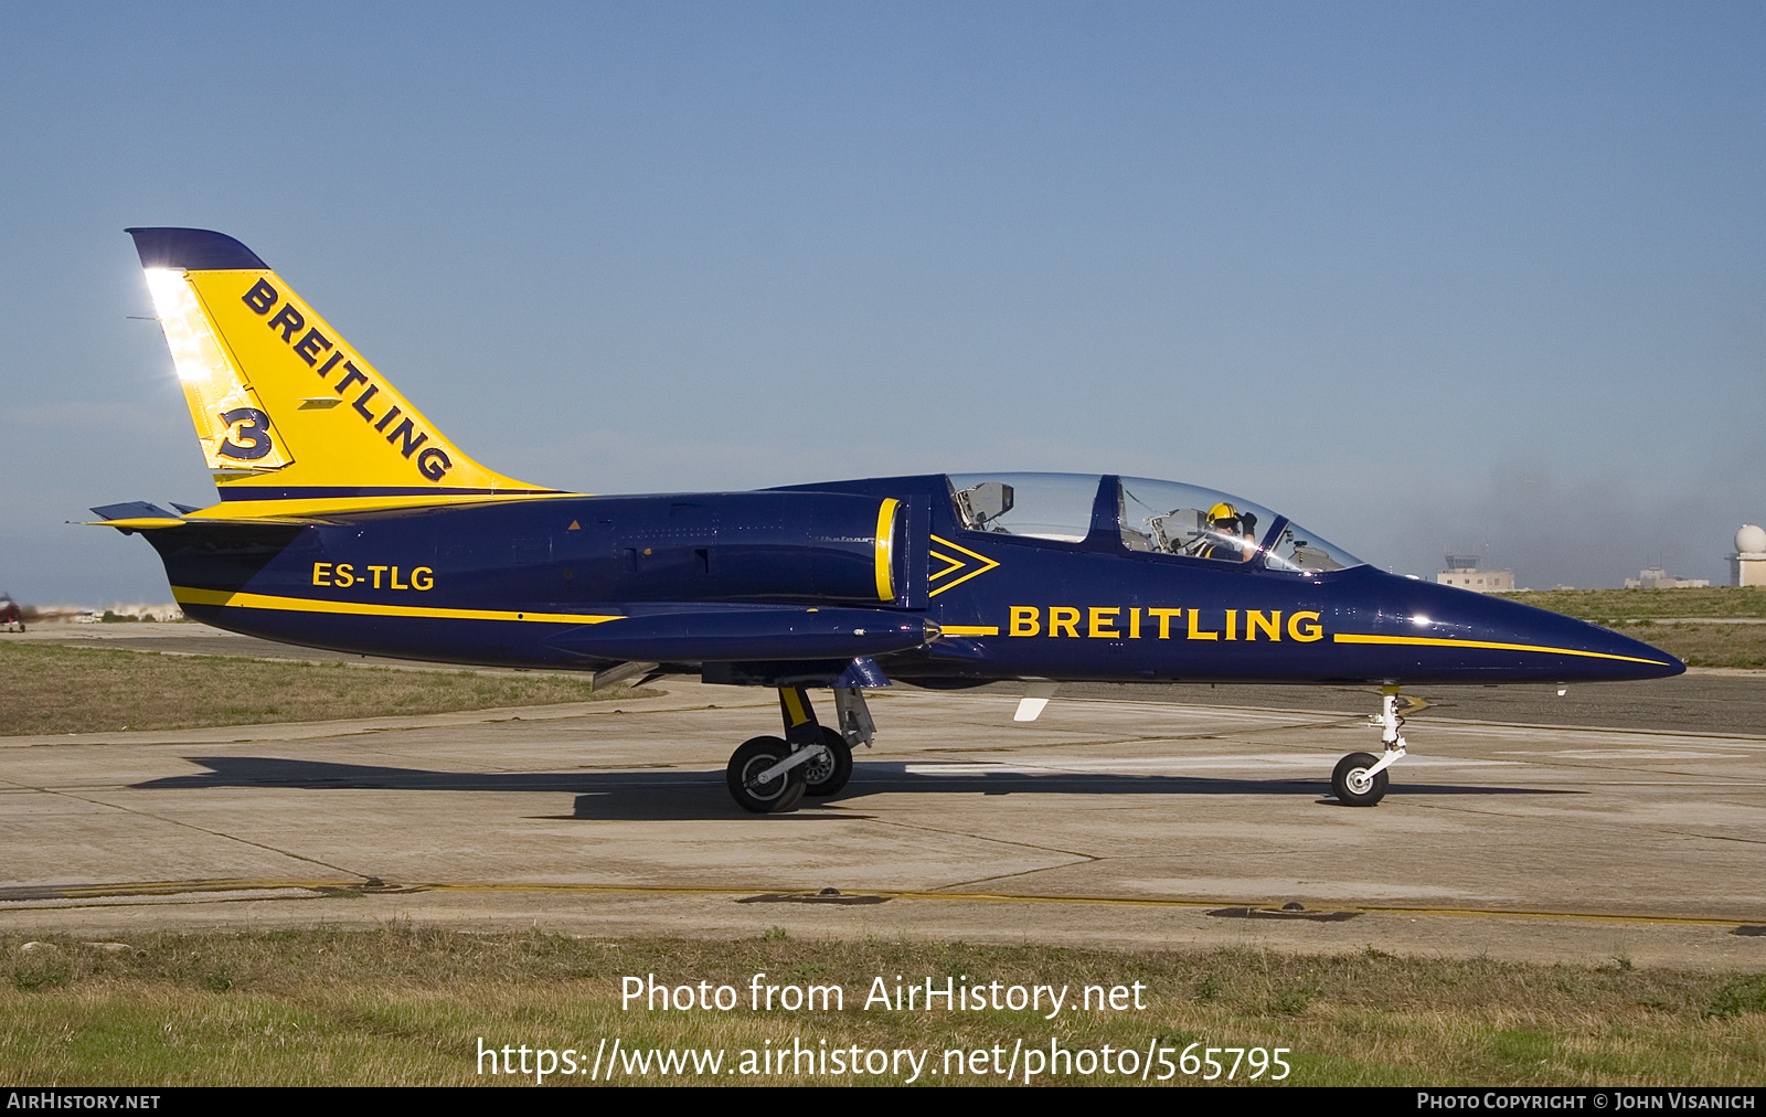
[[[615,688],[595,695],[586,675],[0,643],[0,737],[445,714],[650,693]]]

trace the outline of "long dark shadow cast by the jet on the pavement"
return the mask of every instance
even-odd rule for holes
[[[394,792],[551,792],[576,794],[570,815],[549,818],[586,820],[692,820],[752,818],[724,790],[721,771],[622,769],[583,772],[440,772],[424,769],[286,760],[281,756],[185,756],[208,769],[187,776],[164,776],[132,785],[141,790],[194,788],[302,788],[394,790]],[[818,813],[816,806],[879,794],[961,795],[1323,795],[1335,806],[1326,779],[1247,779],[1213,776],[1128,776],[1116,772],[1001,771],[977,772],[970,762],[950,772],[936,762],[855,764],[851,783],[839,795],[805,799],[796,815],[775,818],[855,818],[839,811]],[[934,771],[925,771],[934,769]],[[1563,788],[1466,786],[1446,783],[1392,785],[1393,794],[1413,795],[1581,795]],[[858,806],[857,802],[853,806]],[[805,809],[809,813],[805,813]]]

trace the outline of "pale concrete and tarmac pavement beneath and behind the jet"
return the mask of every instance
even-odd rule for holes
[[[337,659],[187,624],[26,636]],[[0,931],[777,926],[1766,969],[1757,675],[1565,698],[1423,688],[1411,755],[1370,809],[1339,806],[1328,783],[1344,753],[1377,751],[1370,691],[1067,688],[1014,725],[1008,688],[890,688],[872,691],[878,748],[848,788],[770,817],[731,802],[724,762],[779,732],[774,695],[657,686],[523,710],[4,737]]]

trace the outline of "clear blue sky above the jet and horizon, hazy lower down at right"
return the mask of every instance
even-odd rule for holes
[[[1383,567],[1766,520],[1766,9],[0,5],[0,589],[207,504],[129,224],[583,491],[1190,481]]]

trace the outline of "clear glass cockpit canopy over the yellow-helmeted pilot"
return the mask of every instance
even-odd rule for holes
[[[957,520],[971,532],[1081,543],[1091,534],[1104,474],[950,474]],[[1114,477],[1116,528],[1130,551],[1256,562],[1319,574],[1365,566],[1316,532],[1241,497],[1151,477]]]

